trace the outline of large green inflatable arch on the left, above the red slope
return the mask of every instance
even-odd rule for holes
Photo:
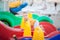
[[[21,19],[22,18],[18,18],[10,12],[0,12],[0,21],[5,21],[11,27],[20,25]]]

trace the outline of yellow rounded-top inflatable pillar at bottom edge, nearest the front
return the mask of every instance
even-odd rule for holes
[[[44,33],[40,27],[36,27],[32,40],[44,40]]]

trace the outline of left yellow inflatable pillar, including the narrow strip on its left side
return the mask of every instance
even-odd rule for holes
[[[29,21],[24,21],[23,18],[21,28],[24,29],[24,37],[31,37],[31,26]]]

